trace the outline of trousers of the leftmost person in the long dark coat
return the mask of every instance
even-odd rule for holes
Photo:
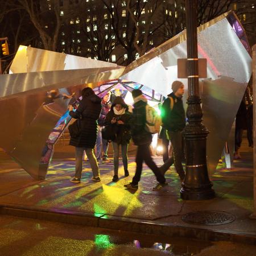
[[[99,177],[100,170],[98,169],[98,163],[93,153],[93,148],[89,147],[76,147],[76,174],[75,177],[81,179],[82,177],[82,155],[84,151],[89,159],[90,167],[92,168],[93,176]]]

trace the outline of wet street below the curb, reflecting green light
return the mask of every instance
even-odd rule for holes
[[[194,255],[209,242],[1,216],[1,255]]]

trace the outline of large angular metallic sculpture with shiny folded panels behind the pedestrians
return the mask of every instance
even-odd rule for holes
[[[233,13],[221,15],[197,31],[199,57],[207,58],[208,63],[208,79],[201,81],[201,90],[204,123],[210,130],[209,170],[213,172],[250,79],[251,56],[243,29]],[[177,59],[186,57],[185,39],[183,31],[126,68],[20,46],[10,74],[0,76],[0,147],[32,177],[44,179],[54,143],[70,120],[67,106],[73,93],[79,97],[85,86],[102,95],[117,84],[128,90],[146,86],[148,96],[160,102],[170,93],[171,82],[177,79]],[[187,86],[187,81],[182,81]],[[99,86],[105,89],[99,91]],[[222,97],[228,93],[233,98]],[[232,113],[225,109],[230,104]],[[221,129],[216,128],[218,115]],[[215,145],[217,138],[220,142]]]

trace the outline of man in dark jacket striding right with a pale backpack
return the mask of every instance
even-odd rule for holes
[[[158,185],[153,190],[159,190],[165,185],[166,179],[156,166],[151,158],[150,144],[152,142],[152,135],[145,130],[146,125],[146,105],[147,99],[142,95],[142,91],[135,89],[132,92],[134,99],[133,116],[131,118],[131,137],[133,142],[138,146],[136,155],[136,172],[131,183],[126,184],[125,187],[129,189],[138,189],[139,180],[141,180],[143,161],[154,172]]]

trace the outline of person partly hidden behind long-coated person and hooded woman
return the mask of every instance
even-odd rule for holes
[[[109,143],[104,138],[102,138],[102,134],[101,134],[101,130],[104,127],[106,115],[109,113],[109,110],[111,108],[110,95],[111,95],[111,92],[106,93],[101,101],[102,110],[101,110],[100,118],[98,119],[98,133],[97,133],[97,141],[96,141],[96,148],[95,148],[95,154],[96,154],[98,163],[110,162],[108,158]],[[103,156],[102,156],[102,152],[103,152]]]

